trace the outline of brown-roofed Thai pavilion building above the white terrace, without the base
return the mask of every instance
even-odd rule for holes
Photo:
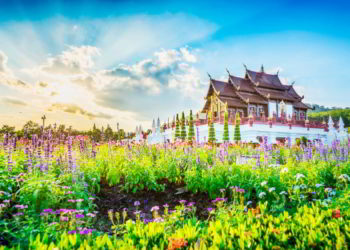
[[[291,85],[281,83],[278,72],[267,74],[263,66],[260,72],[245,66],[243,78],[227,72],[227,81],[218,81],[209,75],[203,113],[211,112],[217,119],[223,116],[227,108],[229,117],[239,112],[240,117],[253,116],[257,120],[265,117],[284,117],[297,121],[306,119],[307,110],[311,107],[302,102],[304,96],[295,91],[294,82]]]

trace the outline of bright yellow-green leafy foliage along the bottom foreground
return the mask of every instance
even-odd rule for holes
[[[241,197],[238,197],[241,198]],[[120,213],[117,213],[120,217]],[[30,238],[30,249],[348,249],[350,213],[303,206],[295,214],[270,215],[266,204],[245,212],[242,204],[217,203],[205,222],[178,206],[171,216],[155,214],[158,222],[120,222],[110,214],[115,234],[79,235],[63,232],[55,242],[48,234]],[[119,221],[119,222],[118,222]],[[4,248],[4,250],[8,248]]]

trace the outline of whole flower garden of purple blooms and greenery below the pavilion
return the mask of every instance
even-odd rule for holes
[[[2,139],[0,249],[348,249],[349,141]]]

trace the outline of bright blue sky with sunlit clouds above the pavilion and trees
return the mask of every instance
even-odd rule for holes
[[[0,1],[0,125],[127,130],[204,104],[207,72],[280,71],[350,106],[348,1]]]

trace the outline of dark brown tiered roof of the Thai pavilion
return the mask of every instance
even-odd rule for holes
[[[260,72],[246,68],[245,77],[233,76],[228,80],[218,81],[210,77],[209,90],[203,110],[210,107],[210,96],[215,92],[218,98],[228,107],[247,108],[248,104],[266,105],[270,100],[291,103],[296,109],[311,109],[302,102],[304,97],[298,95],[291,85],[282,84],[277,74],[267,74],[263,67]]]

